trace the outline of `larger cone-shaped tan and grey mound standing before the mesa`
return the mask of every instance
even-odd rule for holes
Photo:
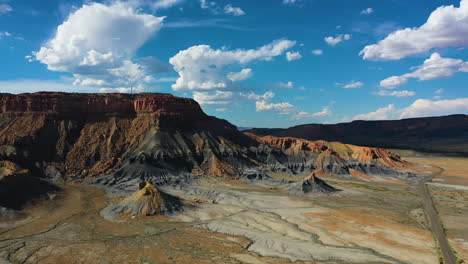
[[[136,219],[144,216],[167,215],[181,211],[181,201],[164,193],[151,182],[141,182],[139,190],[101,211],[101,215],[111,220]]]

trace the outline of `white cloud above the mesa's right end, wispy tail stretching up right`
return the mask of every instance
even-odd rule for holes
[[[281,39],[257,49],[212,49],[208,45],[198,45],[182,50],[170,58],[169,62],[179,74],[172,85],[180,90],[214,90],[235,86],[229,79],[226,68],[244,66],[253,61],[269,61],[282,55],[296,44],[295,41]],[[230,75],[232,77],[232,75]]]

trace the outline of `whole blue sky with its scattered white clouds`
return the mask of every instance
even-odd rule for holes
[[[0,0],[0,91],[165,92],[238,126],[468,114],[468,0]]]

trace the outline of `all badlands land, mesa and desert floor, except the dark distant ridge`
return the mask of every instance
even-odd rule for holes
[[[467,158],[243,133],[168,94],[0,106],[0,263],[467,259]]]

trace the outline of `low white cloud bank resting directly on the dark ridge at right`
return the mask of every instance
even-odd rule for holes
[[[453,100],[418,99],[402,109],[396,109],[395,105],[390,104],[374,112],[357,115],[353,120],[388,120],[453,114],[468,114],[468,98]]]

